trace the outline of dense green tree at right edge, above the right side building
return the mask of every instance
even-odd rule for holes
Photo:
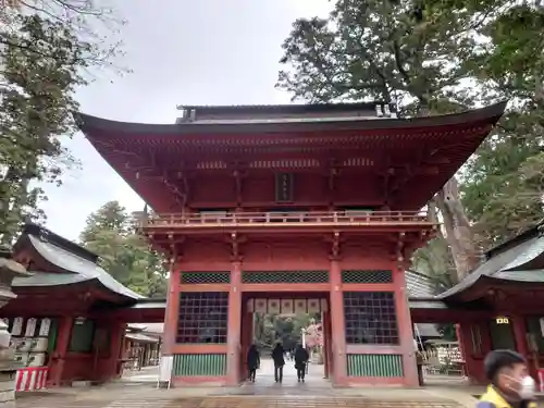
[[[489,42],[472,73],[484,83],[486,98],[509,99],[511,108],[469,162],[461,193],[480,240],[490,247],[544,217],[544,4],[484,3],[493,17],[481,29]]]

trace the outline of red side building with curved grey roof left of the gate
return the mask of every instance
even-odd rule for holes
[[[126,323],[163,320],[164,302],[126,288],[98,256],[49,230],[25,225],[13,256],[32,274],[13,281],[16,297],[0,310],[28,369],[17,376],[20,391],[33,388],[38,372],[49,386],[119,378],[129,358]]]

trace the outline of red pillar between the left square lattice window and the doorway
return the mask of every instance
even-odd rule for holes
[[[226,339],[226,385],[239,384],[240,332],[242,332],[242,271],[240,262],[234,261],[228,292],[228,331]]]

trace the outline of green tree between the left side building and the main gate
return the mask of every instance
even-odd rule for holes
[[[79,240],[100,256],[102,268],[123,285],[149,297],[166,297],[164,258],[135,231],[133,218],[110,201],[87,218]]]

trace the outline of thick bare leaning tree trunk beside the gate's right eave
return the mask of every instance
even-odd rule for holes
[[[480,264],[481,250],[474,243],[470,222],[459,197],[459,184],[452,177],[438,191],[434,201],[440,209],[446,240],[450,246],[459,281]]]

